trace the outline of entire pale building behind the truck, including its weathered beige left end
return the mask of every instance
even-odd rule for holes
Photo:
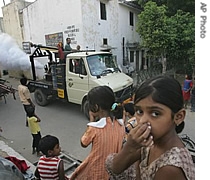
[[[3,19],[5,31],[20,45],[65,45],[70,37],[72,48],[111,50],[122,68],[127,63],[139,70],[145,64],[136,32],[139,13],[137,4],[125,0],[12,0],[3,8]]]

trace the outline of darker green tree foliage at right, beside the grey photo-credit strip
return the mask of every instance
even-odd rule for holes
[[[178,10],[170,17],[169,25],[173,40],[168,44],[168,61],[176,68],[183,68],[185,65],[194,67],[195,61],[195,18],[190,13]],[[184,64],[184,66],[183,66]]]

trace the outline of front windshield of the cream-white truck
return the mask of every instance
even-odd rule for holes
[[[92,55],[87,57],[87,63],[92,76],[105,76],[119,71],[114,57],[110,54]]]

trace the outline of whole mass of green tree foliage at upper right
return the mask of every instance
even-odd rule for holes
[[[164,1],[159,1],[164,2]],[[169,0],[167,1],[169,2]],[[195,17],[177,10],[169,16],[165,5],[149,1],[138,15],[137,32],[141,47],[150,55],[167,57],[167,64],[177,68],[194,68]]]

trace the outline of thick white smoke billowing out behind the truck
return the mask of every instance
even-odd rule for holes
[[[27,55],[6,33],[0,33],[0,65],[6,70],[29,70],[31,63]],[[43,68],[43,65],[35,60],[35,67]]]

